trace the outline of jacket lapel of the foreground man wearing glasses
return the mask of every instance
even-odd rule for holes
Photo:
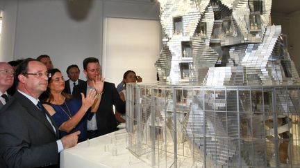
[[[49,116],[53,126],[56,127],[56,133],[54,132],[53,127],[51,126],[50,122],[47,120],[46,115],[44,115],[44,113],[42,113],[42,111],[40,111],[40,109],[38,109],[38,107],[35,106],[35,104],[33,104],[33,102],[28,100],[27,97],[25,97],[24,95],[22,95],[19,92],[15,93],[15,98],[20,104],[22,104],[22,106],[24,106],[26,111],[30,115],[32,115],[33,118],[36,118],[38,121],[40,121],[42,124],[44,124],[45,127],[47,127],[47,129],[49,129],[56,137],[58,137],[58,129],[56,127],[55,122],[53,122],[51,116],[49,115],[48,111],[45,110],[47,115]]]

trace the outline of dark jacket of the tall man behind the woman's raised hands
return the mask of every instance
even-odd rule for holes
[[[87,87],[87,82],[74,86],[73,95],[81,98],[80,93],[84,93],[86,95]],[[125,113],[125,102],[120,99],[119,93],[117,93],[117,88],[115,88],[115,84],[104,82],[101,102],[96,113],[97,127],[103,134],[117,130],[117,120],[113,113],[113,105],[115,105],[117,111]],[[88,113],[90,113],[90,109]]]

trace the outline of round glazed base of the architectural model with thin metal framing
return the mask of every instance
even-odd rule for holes
[[[300,86],[126,90],[128,149],[153,167],[300,167]]]

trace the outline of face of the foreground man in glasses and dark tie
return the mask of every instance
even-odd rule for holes
[[[27,73],[40,73],[42,75],[22,75],[22,82],[26,93],[33,97],[39,97],[47,89],[47,68],[38,61],[28,62]]]

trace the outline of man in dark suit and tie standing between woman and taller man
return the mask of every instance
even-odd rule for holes
[[[69,80],[65,81],[65,93],[72,94],[74,86],[82,84],[84,81],[79,79],[80,70],[76,64],[67,67]]]

